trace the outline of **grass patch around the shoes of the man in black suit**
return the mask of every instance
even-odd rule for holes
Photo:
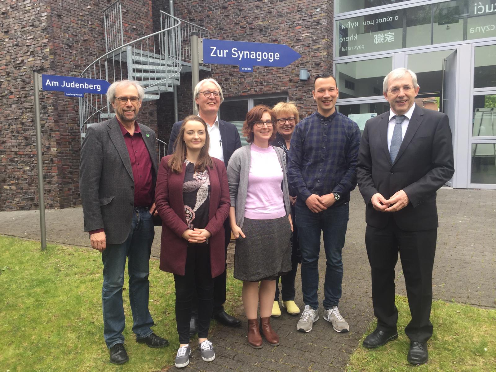
[[[410,347],[404,332],[410,321],[407,299],[396,296],[396,307],[399,312],[398,339],[373,350],[358,347],[347,371],[496,371],[496,310],[433,302],[434,334],[427,343],[429,362],[415,367],[406,360]],[[375,329],[375,324],[371,324],[366,335]]]

